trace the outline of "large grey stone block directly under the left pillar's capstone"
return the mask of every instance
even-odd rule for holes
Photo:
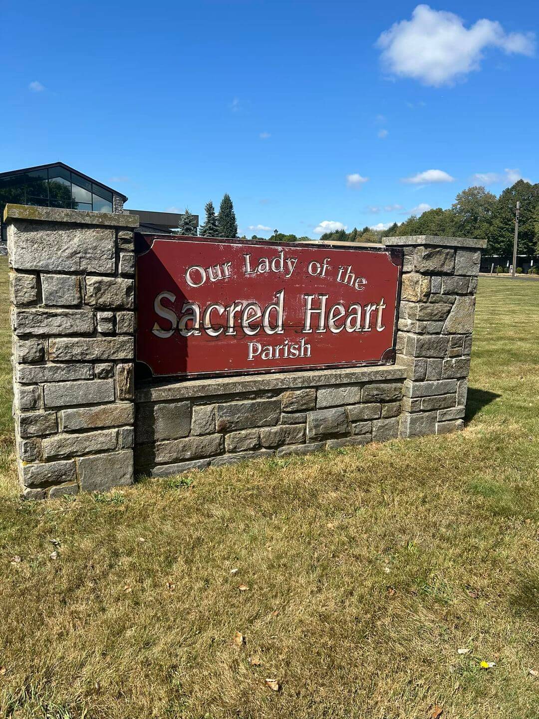
[[[11,263],[17,270],[114,273],[114,229],[14,220]]]

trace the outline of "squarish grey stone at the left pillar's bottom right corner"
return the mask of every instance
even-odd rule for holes
[[[81,457],[77,464],[80,489],[86,492],[106,492],[133,484],[132,449]]]

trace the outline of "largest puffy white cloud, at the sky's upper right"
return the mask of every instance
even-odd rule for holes
[[[377,40],[382,66],[392,75],[414,78],[425,85],[451,85],[479,70],[483,51],[497,47],[507,55],[533,56],[533,32],[506,33],[499,22],[481,19],[469,29],[461,17],[418,5],[412,19],[395,22]]]

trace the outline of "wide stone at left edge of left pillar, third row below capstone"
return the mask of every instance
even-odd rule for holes
[[[86,310],[15,310],[14,331],[18,336],[35,334],[91,334],[93,313]],[[72,342],[78,340],[72,340]]]

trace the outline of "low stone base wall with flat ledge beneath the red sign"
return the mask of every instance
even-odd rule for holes
[[[140,388],[135,472],[174,475],[399,435],[404,367],[292,372]]]

